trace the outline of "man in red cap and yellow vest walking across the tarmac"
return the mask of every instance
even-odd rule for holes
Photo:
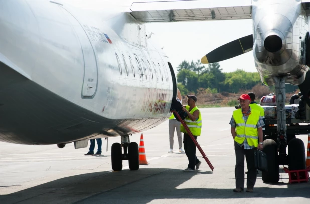
[[[264,121],[260,111],[252,109],[249,105],[251,98],[248,94],[242,94],[240,98],[241,109],[233,112],[230,120],[231,135],[235,143],[236,154],[236,188],[234,192],[242,192],[244,189],[244,156],[248,168],[247,192],[253,192],[256,182],[256,169],[254,164],[254,151],[263,148]]]

